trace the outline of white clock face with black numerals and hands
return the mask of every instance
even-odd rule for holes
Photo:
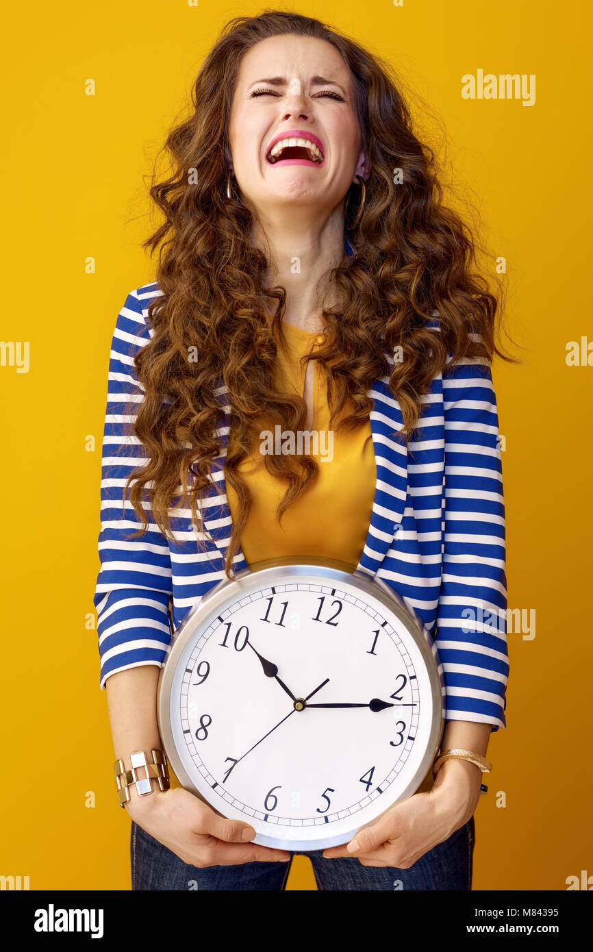
[[[168,757],[255,843],[346,843],[424,779],[442,720],[436,664],[368,583],[261,574],[188,625]]]

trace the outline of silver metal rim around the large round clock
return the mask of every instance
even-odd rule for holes
[[[293,576],[297,579],[299,576],[314,574],[322,578],[325,577],[328,581],[336,583],[338,586],[341,582],[343,584],[354,585],[354,587],[359,588],[361,592],[372,596],[385,605],[385,608],[398,616],[422,655],[428,672],[432,697],[432,720],[428,744],[426,744],[425,754],[418,769],[412,776],[410,783],[407,784],[405,790],[396,800],[390,801],[385,807],[385,810],[378,814],[372,821],[369,821],[369,823],[375,823],[379,817],[383,816],[386,810],[390,809],[395,803],[405,800],[406,797],[416,792],[425,779],[430,764],[434,761],[445,729],[445,679],[443,665],[440,663],[434,640],[415,609],[411,605],[407,605],[396,591],[385,584],[383,579],[367,575],[358,568],[353,569],[351,565],[337,559],[306,558],[303,562],[295,562],[293,558],[278,558],[254,563],[243,571],[238,572],[234,579],[229,580],[225,578],[222,582],[219,582],[218,585],[214,585],[197,605],[189,609],[188,615],[181,625],[178,626],[168,645],[167,656],[160,670],[157,688],[157,721],[168,762],[175,776],[185,789],[188,789],[203,803],[207,803],[210,809],[213,809],[219,816],[225,816],[225,814],[216,809],[216,807],[204,797],[201,791],[197,789],[188,776],[188,772],[177,751],[170,723],[170,698],[173,678],[177,668],[177,661],[185,650],[188,640],[192,637],[196,627],[201,625],[207,616],[217,611],[221,605],[224,605],[227,601],[234,601],[239,598],[242,591],[246,591],[251,587],[254,576],[257,576],[257,585],[273,585],[274,582],[272,580],[277,579],[279,570],[284,576]],[[246,822],[248,822],[247,819]],[[267,837],[256,831],[256,836],[251,842],[277,849],[306,853],[346,843],[365,825],[367,825],[367,823],[359,823],[354,826],[349,833],[342,832],[337,837],[326,836],[319,840],[314,840],[311,837],[310,840],[305,841],[282,840],[276,837]],[[312,831],[313,828],[311,827],[310,829]]]

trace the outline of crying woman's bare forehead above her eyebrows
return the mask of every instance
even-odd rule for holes
[[[237,74],[237,85],[247,86],[269,76],[295,76],[305,80],[307,75],[322,75],[335,80],[346,89],[350,87],[350,70],[342,53],[326,40],[313,36],[269,36],[247,50]]]

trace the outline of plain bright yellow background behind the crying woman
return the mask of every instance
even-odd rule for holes
[[[218,30],[262,9],[33,0],[5,14],[2,338],[30,341],[30,371],[0,367],[0,873],[29,875],[31,889],[130,888],[129,821],[87,627],[109,344],[128,291],[153,279],[139,248],[153,224],[143,175]],[[535,609],[537,629],[532,640],[509,634],[508,727],[488,750],[474,888],[563,890],[566,877],[593,874],[593,367],[565,363],[568,341],[593,340],[589,8],[343,0],[294,9],[387,57],[442,117],[456,191],[470,195],[489,248],[507,261],[507,323],[527,348],[521,366],[494,367],[509,607]],[[462,99],[461,77],[477,69],[535,73],[535,105]],[[315,888],[306,858],[288,888]]]

